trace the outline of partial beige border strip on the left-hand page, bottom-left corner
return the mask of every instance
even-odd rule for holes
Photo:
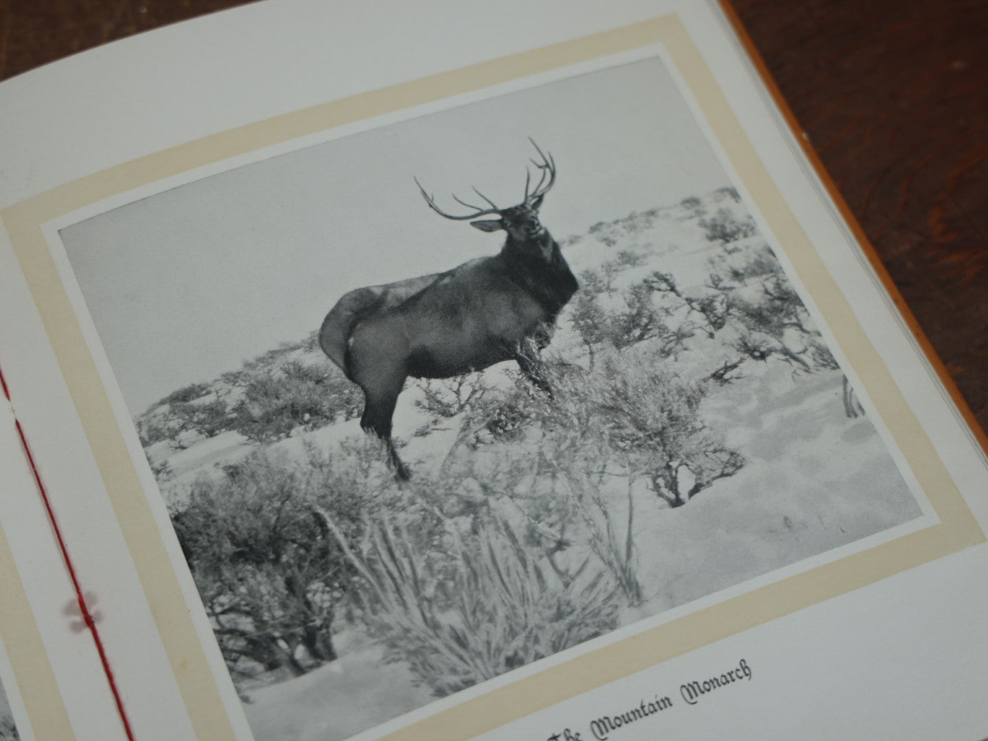
[[[31,729],[39,739],[71,741],[75,732],[48,662],[35,615],[21,576],[14,565],[10,542],[0,524],[0,636],[14,671]],[[0,690],[2,692],[2,690]],[[17,718],[14,718],[17,722]],[[24,734],[22,734],[24,735]]]

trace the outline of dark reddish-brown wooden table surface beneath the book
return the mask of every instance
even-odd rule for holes
[[[731,0],[988,429],[988,2]],[[243,0],[0,0],[0,79]]]

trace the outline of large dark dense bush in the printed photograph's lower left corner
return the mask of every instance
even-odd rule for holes
[[[287,670],[299,675],[336,658],[333,622],[354,588],[354,571],[320,513],[357,537],[372,510],[311,454],[295,463],[259,453],[201,479],[172,522],[227,666],[236,677]],[[351,472],[357,467],[344,466]],[[386,489],[385,489],[386,490]]]

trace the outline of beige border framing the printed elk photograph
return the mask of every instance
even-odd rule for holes
[[[457,704],[387,738],[433,741],[472,737],[719,638],[985,540],[933,444],[786,206],[686,29],[676,16],[664,16],[252,123],[56,187],[0,213],[82,420],[145,595],[153,606],[152,614],[199,738],[232,738],[232,725],[188,615],[159,526],[47,250],[41,224],[126,190],[261,147],[656,42],[665,45],[692,90],[755,205],[863,379],[865,393],[910,462],[942,524],[622,639],[481,698]]]

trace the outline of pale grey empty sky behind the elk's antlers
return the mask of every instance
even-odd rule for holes
[[[131,413],[318,329],[348,290],[493,255],[441,218],[476,185],[522,199],[528,138],[557,238],[728,185],[658,59],[431,113],[182,185],[61,231]],[[328,361],[327,361],[328,362]]]

